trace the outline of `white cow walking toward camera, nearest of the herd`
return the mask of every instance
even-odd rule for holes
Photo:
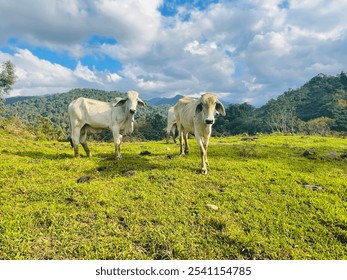
[[[205,93],[199,99],[183,97],[174,106],[177,128],[180,132],[180,154],[188,154],[188,133],[194,133],[201,154],[201,173],[207,174],[207,148],[211,136],[215,112],[225,116],[223,104],[213,93]],[[183,150],[184,140],[184,150]]]

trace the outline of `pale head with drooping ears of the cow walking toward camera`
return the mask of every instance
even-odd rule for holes
[[[206,124],[214,124],[215,112],[225,116],[223,104],[218,100],[213,93],[205,93],[201,95],[195,108],[195,114],[202,113],[203,120]]]

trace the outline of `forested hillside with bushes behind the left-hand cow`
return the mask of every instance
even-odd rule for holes
[[[11,100],[6,103],[6,110],[1,112],[5,118],[17,116],[26,125],[40,128],[40,126],[53,126],[62,130],[62,135],[69,133],[69,119],[67,108],[69,103],[78,97],[87,97],[101,101],[112,101],[115,97],[125,96],[119,91],[103,91],[96,89],[73,89],[66,93],[50,96],[26,98],[24,100]],[[135,115],[138,128],[133,137],[139,139],[156,140],[164,137],[166,126],[166,112],[168,106],[153,106],[146,103],[139,108]],[[159,130],[156,129],[159,127]],[[63,136],[64,137],[64,136]],[[97,136],[96,136],[97,137]],[[105,131],[99,139],[108,139],[111,135]]]

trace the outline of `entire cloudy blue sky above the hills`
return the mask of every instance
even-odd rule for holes
[[[347,71],[345,0],[0,0],[15,95],[212,91],[256,106]]]

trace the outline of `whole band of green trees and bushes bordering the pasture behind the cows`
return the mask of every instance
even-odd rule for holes
[[[32,131],[49,139],[66,139],[69,135],[67,107],[78,97],[112,101],[125,96],[119,91],[74,89],[50,96],[10,99],[2,110],[2,118],[20,118]],[[154,106],[147,103],[136,113],[135,131],[129,140],[160,140],[165,137],[169,104]],[[217,116],[213,135],[228,136],[247,133],[280,132],[326,135],[347,132],[347,76],[319,74],[299,89],[289,89],[277,99],[271,99],[261,108],[250,104],[226,106],[226,116]],[[92,136],[109,140],[108,131]]]

